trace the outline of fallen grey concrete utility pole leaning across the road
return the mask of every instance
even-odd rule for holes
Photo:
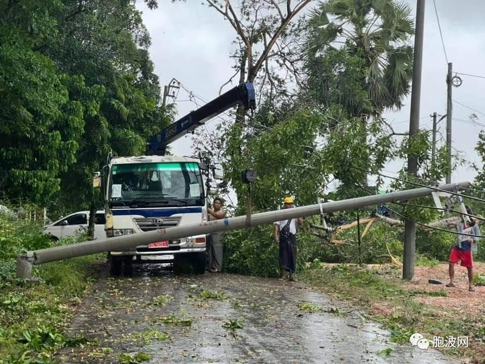
[[[462,188],[469,188],[470,186],[471,185],[469,182],[462,182],[459,184],[442,186],[440,187],[440,190],[453,192]],[[433,191],[434,189],[432,188],[423,187],[383,195],[365,196],[342,201],[261,212],[251,215],[251,226],[286,220],[289,218],[320,215],[334,211],[353,210],[364,206],[377,205],[381,203],[409,200],[431,195]],[[17,258],[17,277],[24,279],[30,278],[32,264],[42,264],[50,261],[74,258],[77,256],[107,251],[120,251],[133,248],[137,245],[148,245],[149,243],[155,243],[161,240],[173,240],[189,236],[215,233],[219,231],[237,230],[245,227],[246,216],[237,216],[198,224],[174,226],[173,228],[160,229],[153,232],[125,235],[103,240],[87,241],[54,248],[28,251],[26,254],[23,254]]]

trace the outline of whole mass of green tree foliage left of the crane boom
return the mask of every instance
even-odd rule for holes
[[[108,152],[143,153],[171,119],[135,1],[0,2],[0,10],[10,16],[0,24],[0,190],[62,212],[94,209],[90,180]]]

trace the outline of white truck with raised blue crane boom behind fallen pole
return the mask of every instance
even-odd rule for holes
[[[237,104],[254,110],[252,83],[228,90],[154,135],[146,155],[108,157],[93,179],[93,186],[103,191],[108,239],[207,221],[209,191],[203,173],[207,165],[195,158],[166,155],[166,148]],[[135,262],[167,262],[167,258],[174,266],[191,263],[197,274],[203,274],[205,256],[206,236],[198,235],[110,251],[108,260],[113,275],[120,274],[123,265],[129,269]]]

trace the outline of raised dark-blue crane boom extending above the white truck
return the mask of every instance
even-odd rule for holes
[[[147,147],[147,155],[165,155],[165,150],[170,143],[239,103],[247,109],[254,110],[256,107],[256,94],[252,83],[246,82],[230,89],[167,126],[151,138]]]

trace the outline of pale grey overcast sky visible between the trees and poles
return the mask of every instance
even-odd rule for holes
[[[416,2],[407,2],[414,12]],[[237,1],[232,0],[232,3],[236,4]],[[485,60],[485,2],[436,0],[436,3],[448,61],[453,62],[453,70],[485,76],[482,67]],[[138,7],[143,12],[143,21],[152,36],[150,54],[161,85],[176,78],[187,89],[207,100],[217,97],[219,87],[233,74],[233,61],[228,56],[235,34],[230,25],[219,13],[202,6],[199,0],[174,4],[168,0],[159,0],[159,8],[154,11],[146,8],[142,2],[138,3]],[[427,0],[421,85],[421,128],[431,129],[429,115],[433,112],[441,115],[446,113],[446,74],[447,62],[433,2]],[[453,88],[453,99],[479,112],[454,103],[453,148],[463,152],[467,161],[481,166],[481,160],[474,148],[478,141],[478,132],[485,127],[463,120],[469,120],[469,115],[475,113],[478,116],[476,122],[485,125],[485,106],[482,102],[485,79],[459,76],[462,77],[463,83],[460,87]],[[188,99],[188,94],[181,89],[177,99],[179,116],[197,108],[195,103],[184,101]],[[198,103],[201,104],[199,100]],[[410,98],[405,104],[399,112],[385,114],[396,131],[402,132],[409,128]],[[216,118],[208,122],[209,129],[214,128],[219,121]],[[446,120],[439,124],[439,131],[440,146],[446,141]],[[174,154],[190,155],[191,144],[191,137],[186,136],[172,144],[172,151]],[[392,162],[385,170],[389,173],[398,171],[402,163],[403,161]],[[459,167],[453,173],[452,181],[472,180],[475,174],[468,166]]]

